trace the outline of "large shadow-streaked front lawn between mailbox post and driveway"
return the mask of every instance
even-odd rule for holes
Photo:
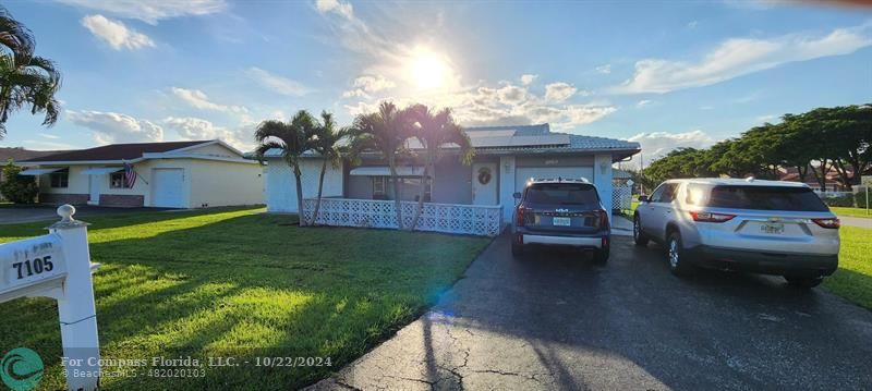
[[[199,379],[102,378],[105,389],[295,389],[328,376],[422,314],[489,240],[299,228],[263,209],[88,219],[104,358],[329,357],[331,367],[206,368]],[[0,225],[0,242],[45,233]],[[41,387],[63,387],[57,306],[0,305],[0,353],[36,350]],[[239,363],[239,362],[238,362]],[[124,367],[132,369],[132,367]],[[104,368],[117,370],[119,367]]]

